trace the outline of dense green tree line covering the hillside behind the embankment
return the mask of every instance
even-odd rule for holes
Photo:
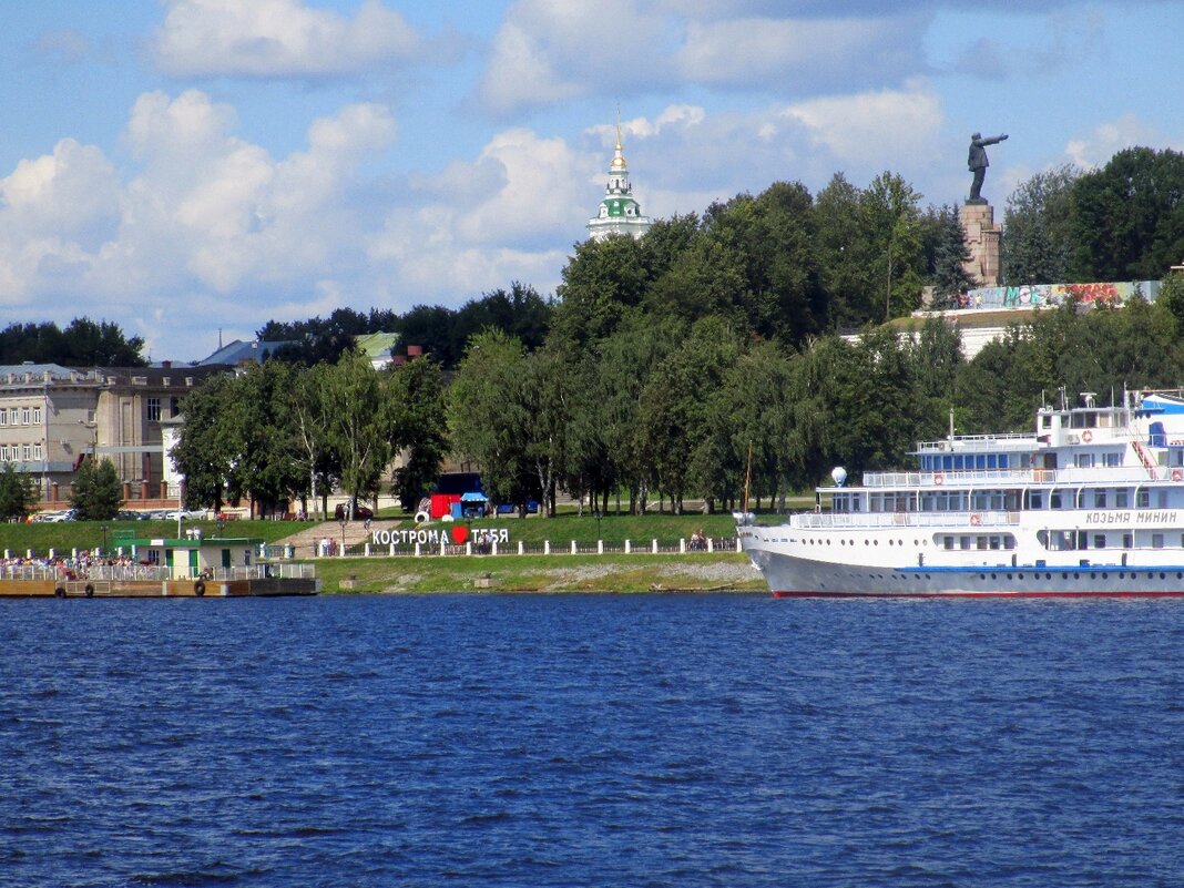
[[[1184,257],[1182,185],[1184,155],[1145,148],[1037,174],[1009,198],[1004,268],[1012,282],[1159,278]],[[323,506],[329,489],[387,483],[413,504],[445,455],[477,463],[500,502],[551,508],[565,490],[598,509],[731,508],[837,464],[900,465],[951,417],[1024,430],[1061,386],[1179,384],[1176,277],[1154,305],[1041,313],[969,362],[942,321],[876,326],[926,287],[939,305],[964,290],[964,259],[957,208],[922,208],[895,174],[864,188],[837,174],[817,195],[777,182],[636,240],[574,245],[554,301],[515,283],[458,310],[271,322],[260,337],[291,341],[287,360],[193,393],[174,456],[191,504],[215,508]],[[429,356],[373,369],[350,345],[375,327]]]

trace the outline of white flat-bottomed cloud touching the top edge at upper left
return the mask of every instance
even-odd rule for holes
[[[423,37],[379,0],[353,19],[302,0],[170,0],[153,44],[178,77],[348,75],[413,58]]]

